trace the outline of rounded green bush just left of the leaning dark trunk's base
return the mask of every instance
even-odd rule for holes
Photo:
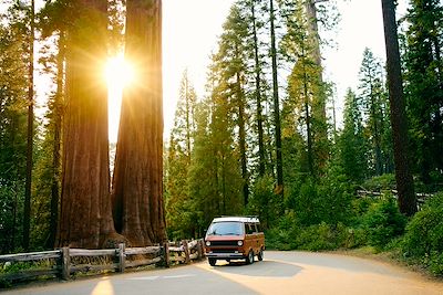
[[[380,250],[392,239],[403,234],[405,225],[406,218],[400,213],[393,198],[371,204],[362,219],[368,244]]]

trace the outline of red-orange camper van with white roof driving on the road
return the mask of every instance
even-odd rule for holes
[[[212,266],[217,260],[245,260],[254,263],[264,259],[265,234],[257,217],[215,218],[205,236],[206,256]]]

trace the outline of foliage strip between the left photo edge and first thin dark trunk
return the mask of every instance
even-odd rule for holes
[[[21,238],[27,155],[25,22],[11,10],[0,23],[0,253]]]

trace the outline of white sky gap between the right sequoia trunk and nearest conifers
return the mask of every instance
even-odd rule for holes
[[[163,99],[165,137],[173,126],[183,72],[187,69],[199,97],[209,56],[234,0],[163,0]]]

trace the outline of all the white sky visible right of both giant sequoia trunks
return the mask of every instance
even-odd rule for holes
[[[358,73],[365,48],[385,60],[380,0],[338,0],[341,21],[332,34],[334,48],[323,51],[326,78],[336,83],[338,122],[342,120],[346,89],[358,86]],[[404,13],[406,0],[400,0]],[[185,69],[197,95],[204,95],[209,54],[217,50],[217,36],[234,0],[164,0],[164,119],[165,137],[173,126],[179,82]],[[340,124],[339,124],[340,125]]]

